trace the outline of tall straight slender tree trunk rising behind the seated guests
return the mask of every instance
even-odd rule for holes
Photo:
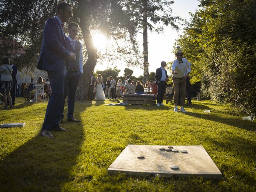
[[[143,83],[148,81],[148,0],[143,0]]]

